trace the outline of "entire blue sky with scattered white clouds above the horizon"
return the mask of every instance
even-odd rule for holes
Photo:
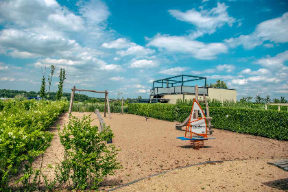
[[[0,88],[149,97],[153,80],[207,77],[237,99],[288,97],[288,1],[0,0]],[[203,86],[203,82],[197,82]],[[104,97],[85,93],[91,97]]]

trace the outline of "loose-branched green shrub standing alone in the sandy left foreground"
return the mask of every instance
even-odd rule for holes
[[[86,116],[83,119],[72,117],[59,133],[64,160],[56,169],[57,178],[60,183],[71,179],[73,189],[97,189],[105,176],[121,168],[116,158],[119,150],[115,145],[106,144],[113,136],[110,127],[99,133],[97,126],[91,126],[91,121]]]

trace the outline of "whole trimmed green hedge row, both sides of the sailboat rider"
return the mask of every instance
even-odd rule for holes
[[[215,128],[288,141],[288,112],[252,108],[209,108]],[[130,104],[129,113],[182,122],[191,106]]]

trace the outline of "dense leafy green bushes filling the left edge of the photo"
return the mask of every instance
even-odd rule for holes
[[[0,191],[23,161],[32,164],[53,138],[47,131],[64,112],[64,101],[0,101]]]

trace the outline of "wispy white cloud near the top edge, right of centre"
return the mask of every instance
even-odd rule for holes
[[[204,29],[209,34],[225,24],[232,26],[235,19],[228,16],[228,6],[225,3],[217,3],[217,7],[211,10],[201,10],[198,12],[194,8],[181,12],[180,10],[169,10],[168,12],[180,21],[185,21],[195,25],[198,29]]]

